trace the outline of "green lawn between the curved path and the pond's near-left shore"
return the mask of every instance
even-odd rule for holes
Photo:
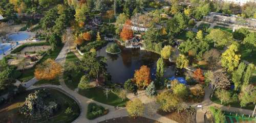
[[[79,93],[83,96],[86,96],[92,100],[97,102],[108,104],[111,106],[119,106],[123,107],[126,104],[127,100],[122,101],[118,95],[109,91],[108,99],[106,99],[106,94],[103,92],[103,89],[98,87],[89,88],[88,90],[79,91]]]

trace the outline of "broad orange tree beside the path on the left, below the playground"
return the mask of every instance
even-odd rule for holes
[[[35,68],[35,78],[37,80],[52,80],[61,73],[61,66],[52,59],[47,59]]]

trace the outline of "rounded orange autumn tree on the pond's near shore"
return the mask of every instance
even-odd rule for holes
[[[134,79],[138,87],[145,87],[151,83],[150,68],[146,65],[140,67],[139,70],[135,70]]]

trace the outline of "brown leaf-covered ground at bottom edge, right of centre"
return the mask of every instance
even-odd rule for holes
[[[179,123],[196,123],[196,112],[189,112],[188,110],[184,110],[182,112],[163,112],[163,111],[158,111],[158,114],[165,116],[169,119],[175,120]]]

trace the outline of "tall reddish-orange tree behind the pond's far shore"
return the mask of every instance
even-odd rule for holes
[[[132,22],[130,19],[126,20],[122,29],[122,32],[120,33],[120,37],[123,40],[129,40],[133,38],[133,30],[131,29]]]

